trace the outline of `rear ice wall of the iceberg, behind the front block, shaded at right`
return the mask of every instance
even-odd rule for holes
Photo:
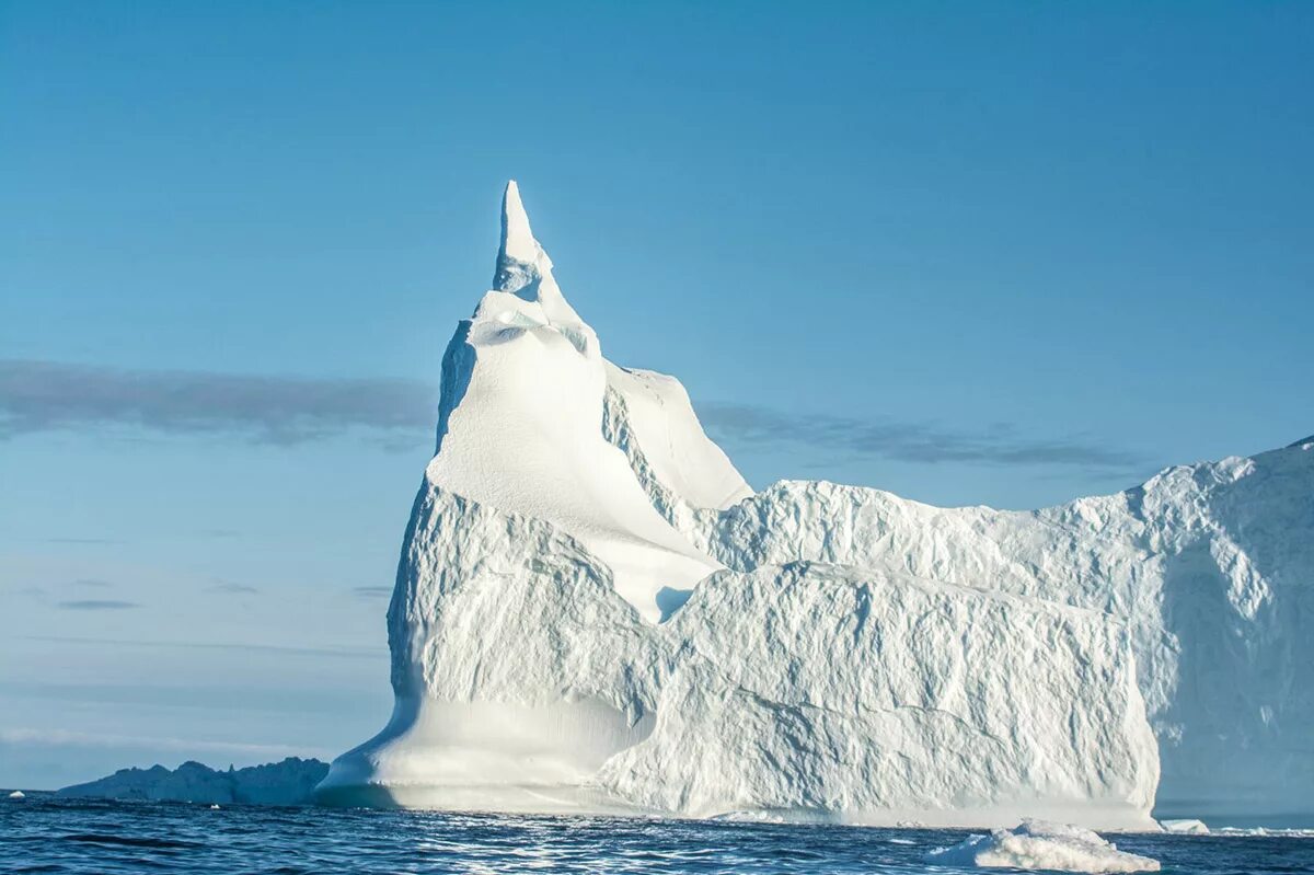
[[[1159,811],[1314,813],[1314,443],[1034,512],[781,482],[682,528],[740,570],[899,568],[1106,612],[1131,633]]]

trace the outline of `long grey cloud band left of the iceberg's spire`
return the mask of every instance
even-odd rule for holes
[[[352,431],[413,447],[436,419],[438,393],[406,380],[127,370],[0,360],[0,439],[138,427],[298,444]]]

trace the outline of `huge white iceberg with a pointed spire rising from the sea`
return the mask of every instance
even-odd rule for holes
[[[1309,808],[1311,449],[1031,514],[754,494],[675,378],[603,359],[511,183],[443,360],[393,715],[318,797],[1092,828],[1152,828],[1156,788]]]

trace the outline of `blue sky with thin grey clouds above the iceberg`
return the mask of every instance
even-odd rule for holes
[[[1314,431],[1306,4],[0,3],[0,784],[332,755],[506,179],[750,482]]]

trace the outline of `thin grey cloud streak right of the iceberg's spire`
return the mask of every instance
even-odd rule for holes
[[[1080,438],[1025,438],[1012,426],[953,430],[892,419],[788,414],[737,403],[700,403],[698,413],[716,439],[738,444],[794,444],[896,461],[979,465],[1074,466],[1139,470],[1146,460],[1118,447]]]

